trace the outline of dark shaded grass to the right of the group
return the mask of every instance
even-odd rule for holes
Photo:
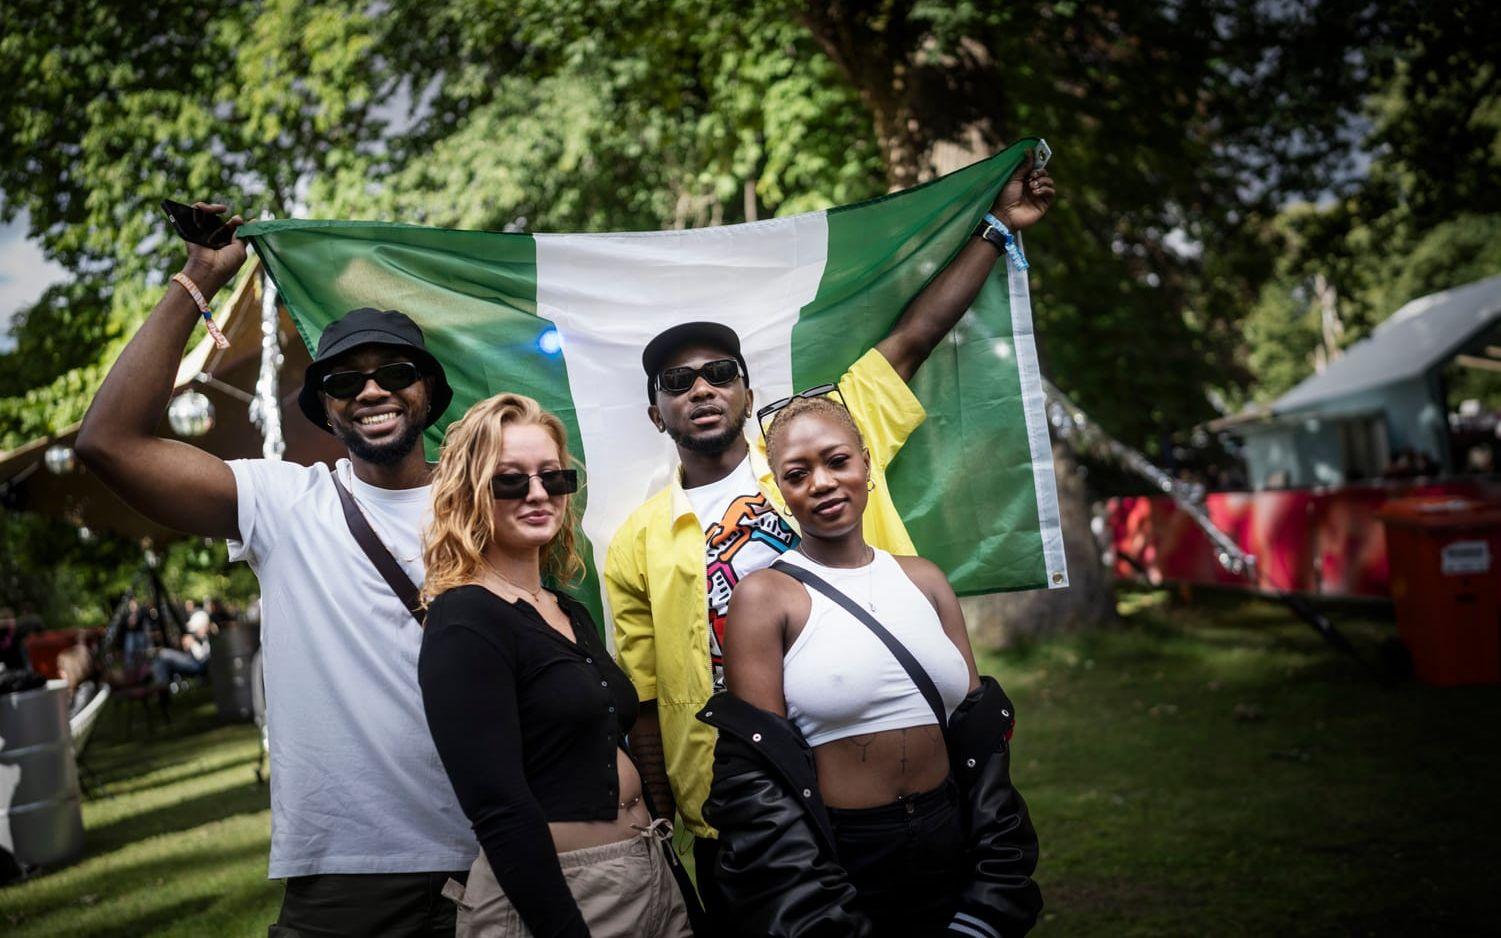
[[[1123,630],[986,662],[1037,933],[1496,933],[1501,687],[1382,687],[1270,602],[1120,606]],[[1336,621],[1364,650],[1394,629]]]

